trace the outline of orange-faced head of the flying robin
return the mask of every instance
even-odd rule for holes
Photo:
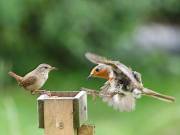
[[[92,70],[88,78],[90,77],[98,77],[98,78],[104,78],[109,80],[110,77],[110,72],[111,72],[111,67],[109,65],[105,64],[98,64],[95,66]]]

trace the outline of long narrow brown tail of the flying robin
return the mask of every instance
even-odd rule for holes
[[[166,101],[166,102],[174,102],[175,101],[174,97],[157,93],[157,92],[150,90],[148,88],[143,89],[143,94],[150,96],[150,97],[153,97],[153,98],[156,98],[156,99],[159,99],[159,100],[162,100],[162,101]]]

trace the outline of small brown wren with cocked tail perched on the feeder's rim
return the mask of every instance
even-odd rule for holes
[[[48,64],[40,64],[37,68],[27,73],[24,77],[21,77],[14,72],[9,72],[8,74],[15,78],[21,87],[31,91],[32,94],[35,94],[36,92],[44,92],[44,90],[39,89],[47,81],[49,72],[55,69],[57,68]]]

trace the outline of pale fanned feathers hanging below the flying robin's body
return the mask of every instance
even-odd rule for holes
[[[121,112],[133,111],[136,105],[136,100],[132,94],[116,94],[111,98],[103,97],[103,101],[107,102],[109,106],[113,106],[114,109],[119,110]]]

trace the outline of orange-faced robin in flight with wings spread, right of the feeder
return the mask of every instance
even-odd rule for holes
[[[135,102],[141,95],[147,95],[159,100],[173,102],[174,97],[163,95],[143,86],[141,74],[132,71],[119,61],[111,61],[92,53],[86,53],[86,58],[98,64],[89,77],[99,77],[108,80],[100,88],[100,97],[119,111],[132,111]],[[97,92],[96,92],[97,93]]]

